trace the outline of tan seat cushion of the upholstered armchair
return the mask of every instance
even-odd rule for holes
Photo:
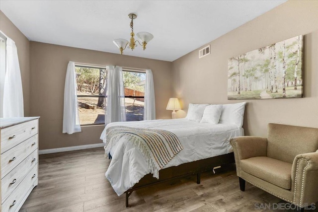
[[[244,172],[284,189],[291,189],[292,165],[264,156],[240,160],[240,167]]]

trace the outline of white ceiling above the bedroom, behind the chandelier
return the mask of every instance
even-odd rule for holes
[[[115,38],[155,38],[125,55],[174,61],[286,0],[1,0],[1,11],[31,41],[119,53]]]

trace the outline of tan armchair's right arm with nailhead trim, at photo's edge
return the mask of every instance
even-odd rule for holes
[[[318,151],[296,155],[292,166],[292,192],[295,205],[318,201]]]

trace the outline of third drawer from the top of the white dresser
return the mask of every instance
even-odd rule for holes
[[[1,180],[1,203],[22,182],[27,173],[38,163],[38,151],[34,150],[25,160],[17,165]]]

